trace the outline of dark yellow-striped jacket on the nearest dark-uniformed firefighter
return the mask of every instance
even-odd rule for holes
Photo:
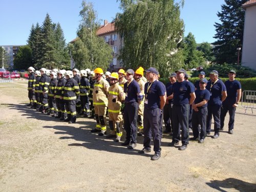
[[[75,79],[69,78],[65,83],[64,89],[62,89],[62,97],[64,100],[73,101],[79,96],[79,86]]]

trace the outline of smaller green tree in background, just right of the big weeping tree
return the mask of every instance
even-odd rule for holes
[[[191,32],[184,38],[184,57],[187,69],[197,68],[205,62],[203,52],[197,50],[197,42]]]

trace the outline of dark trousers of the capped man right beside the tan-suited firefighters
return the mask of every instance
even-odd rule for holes
[[[137,143],[137,116],[139,103],[125,103],[123,112],[123,126],[126,131],[126,140]]]

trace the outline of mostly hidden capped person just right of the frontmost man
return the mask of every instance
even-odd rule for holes
[[[165,125],[165,131],[163,133],[172,134],[172,127],[173,127],[173,117],[172,117],[172,110],[173,110],[173,94],[170,94],[172,91],[173,84],[176,82],[176,73],[171,73],[169,77],[169,82],[165,85],[166,89],[166,103],[163,108],[163,121]]]

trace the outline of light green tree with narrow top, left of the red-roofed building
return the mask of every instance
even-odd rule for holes
[[[77,30],[76,40],[69,45],[71,57],[78,69],[95,69],[100,67],[106,70],[112,58],[112,49],[105,44],[102,37],[96,32],[99,28],[97,13],[92,3],[82,1],[81,21]]]

